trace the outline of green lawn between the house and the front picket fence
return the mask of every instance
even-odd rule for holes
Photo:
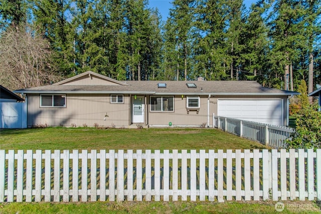
[[[45,128],[1,130],[3,150],[73,150],[73,149],[265,149],[217,129],[95,129]]]

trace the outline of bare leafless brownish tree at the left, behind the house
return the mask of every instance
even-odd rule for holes
[[[60,80],[48,41],[30,26],[9,28],[0,37],[0,83],[15,90]]]

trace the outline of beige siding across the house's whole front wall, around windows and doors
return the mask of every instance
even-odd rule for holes
[[[66,108],[40,108],[40,94],[28,94],[28,126],[45,125],[67,126],[75,124],[77,127],[99,126],[127,127],[131,124],[131,100],[128,94],[124,94],[124,103],[110,103],[110,94],[67,94]],[[167,95],[168,96],[168,95]],[[200,109],[187,113],[187,98],[184,95],[174,96],[174,112],[151,112],[150,99],[146,96],[145,124],[151,126],[200,126],[207,123],[213,126],[213,114],[217,115],[217,100],[220,98],[253,99],[253,98],[282,98],[283,120],[286,124],[286,98],[287,96],[200,96]],[[105,117],[105,115],[108,117]],[[104,120],[104,118],[106,120]]]

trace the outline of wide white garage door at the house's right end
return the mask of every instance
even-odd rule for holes
[[[218,99],[218,116],[283,126],[281,99]]]

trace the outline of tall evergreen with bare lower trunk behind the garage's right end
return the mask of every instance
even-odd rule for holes
[[[304,39],[304,10],[301,1],[277,0],[269,16],[270,38],[272,51],[269,59],[271,70],[275,77],[283,80],[284,89],[289,90],[290,67],[292,61],[298,57],[298,50]]]

